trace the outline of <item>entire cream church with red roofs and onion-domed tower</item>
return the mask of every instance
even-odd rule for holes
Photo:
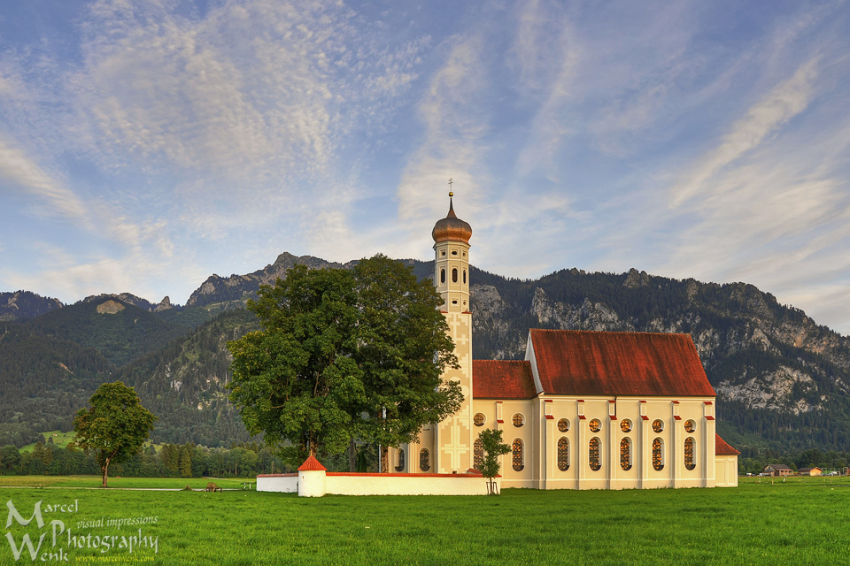
[[[473,360],[472,227],[449,211],[434,239],[437,291],[460,369],[460,410],[390,450],[399,473],[462,474],[478,434],[504,431],[501,486],[627,489],[738,485],[738,450],[715,432],[715,390],[689,334],[529,331],[522,361]]]

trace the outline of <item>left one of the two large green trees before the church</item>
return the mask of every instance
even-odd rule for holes
[[[352,359],[359,318],[352,272],[296,265],[274,287],[261,287],[248,309],[263,329],[228,343],[230,400],[248,431],[263,432],[296,465],[320,447],[341,452],[364,402]]]

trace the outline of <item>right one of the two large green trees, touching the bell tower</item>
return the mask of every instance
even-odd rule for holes
[[[458,367],[443,298],[430,279],[419,280],[412,267],[378,255],[354,267],[359,309],[358,348],[366,405],[357,420],[360,439],[382,447],[415,440],[424,424],[438,423],[460,409],[456,382],[441,379]]]

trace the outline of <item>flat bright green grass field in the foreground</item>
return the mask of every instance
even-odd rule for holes
[[[105,564],[120,556],[126,563],[229,565],[836,564],[850,554],[847,478],[746,478],[738,488],[716,489],[505,490],[498,497],[306,499],[74,487],[8,488],[0,495],[26,517],[35,501],[43,510],[77,500],[76,513],[44,514],[47,522],[61,519],[74,536],[138,534],[141,528],[143,536],[158,538],[156,555],[148,548],[133,555],[120,548],[66,551],[78,563]],[[157,522],[121,529],[77,525],[101,517]],[[19,544],[24,532],[39,533],[34,525],[13,524],[7,531]],[[66,546],[66,534],[59,547]],[[50,545],[50,535],[44,544]],[[8,542],[0,545],[0,564],[12,563]]]

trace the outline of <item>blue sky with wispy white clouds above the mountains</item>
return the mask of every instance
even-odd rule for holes
[[[850,334],[846,2],[0,4],[0,290],[283,251],[746,281]]]

